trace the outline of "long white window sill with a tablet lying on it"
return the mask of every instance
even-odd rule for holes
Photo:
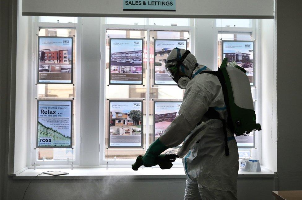
[[[238,172],[238,178],[274,178],[277,174],[261,167],[261,172]],[[62,176],[51,176],[43,174],[46,171],[62,171],[69,174]],[[42,173],[38,177],[38,174]],[[158,178],[186,178],[184,169],[173,167],[162,170],[160,168],[144,168],[133,171],[131,168],[48,168],[48,169],[25,169],[18,174],[11,174],[14,179],[103,179],[103,178],[129,178],[129,179],[158,179]]]

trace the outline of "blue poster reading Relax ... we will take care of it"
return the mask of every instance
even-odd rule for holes
[[[37,147],[71,147],[72,100],[38,100]]]

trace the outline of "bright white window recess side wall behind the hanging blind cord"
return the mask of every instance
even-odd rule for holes
[[[274,20],[261,20],[262,165],[277,171],[276,82],[273,83]],[[274,91],[274,92],[273,92]],[[274,93],[274,108],[273,103]],[[274,110],[274,113],[272,113]],[[273,114],[273,115],[272,115]],[[273,117],[273,119],[272,119]],[[273,120],[273,121],[272,121]],[[273,123],[273,124],[272,124]]]

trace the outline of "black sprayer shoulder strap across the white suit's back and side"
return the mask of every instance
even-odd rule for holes
[[[209,74],[213,74],[215,76],[217,76],[221,86],[222,86],[222,92],[223,92],[223,98],[224,98],[224,103],[226,104],[226,110],[228,113],[228,117],[230,116],[229,114],[231,113],[229,111],[229,100],[228,100],[228,96],[227,96],[227,91],[226,91],[226,82],[224,80],[224,77],[222,75],[222,72],[220,71],[220,68],[218,68],[218,71],[201,71],[200,74],[205,74],[205,73],[209,73]],[[225,153],[226,156],[230,155],[229,152],[229,147],[227,145],[227,131],[226,131],[226,126],[229,123],[226,123],[226,121],[222,118],[220,118],[219,113],[214,110],[213,108],[209,108],[208,112],[205,113],[205,116],[208,116],[209,118],[212,119],[219,119],[221,120],[222,124],[223,124],[223,133],[224,133],[224,141],[225,141]],[[229,119],[227,119],[227,121],[229,121]]]

